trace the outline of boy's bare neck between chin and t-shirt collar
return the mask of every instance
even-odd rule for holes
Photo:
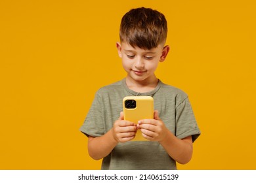
[[[148,78],[147,80],[133,80],[133,78],[130,78],[129,76],[125,78],[127,87],[130,90],[139,93],[146,93],[154,90],[154,88],[158,86],[158,81],[159,80],[156,76]]]

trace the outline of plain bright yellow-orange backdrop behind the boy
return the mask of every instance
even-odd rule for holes
[[[116,41],[135,7],[163,12],[157,76],[184,90],[202,131],[179,169],[256,169],[255,1],[0,1],[0,169],[100,169],[79,127],[125,77]]]

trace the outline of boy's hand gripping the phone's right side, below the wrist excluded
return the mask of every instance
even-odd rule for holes
[[[154,119],[140,120],[137,127],[142,132],[142,136],[149,141],[163,141],[167,135],[167,127],[158,116],[158,111],[154,111]]]

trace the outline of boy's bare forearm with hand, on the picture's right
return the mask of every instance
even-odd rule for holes
[[[193,144],[192,137],[178,139],[165,127],[165,124],[154,112],[154,120],[141,120],[138,127],[144,138],[150,141],[158,141],[165,148],[166,152],[178,163],[185,164],[192,158]]]

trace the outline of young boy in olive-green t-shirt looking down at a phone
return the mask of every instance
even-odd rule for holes
[[[102,169],[177,169],[176,161],[190,161],[200,130],[188,96],[154,74],[169,52],[165,16],[151,8],[132,9],[121,20],[119,37],[117,51],[127,76],[96,92],[80,128],[89,137],[89,155],[103,158]],[[154,119],[138,125],[123,120],[127,95],[152,96]],[[137,129],[148,141],[131,141]]]

